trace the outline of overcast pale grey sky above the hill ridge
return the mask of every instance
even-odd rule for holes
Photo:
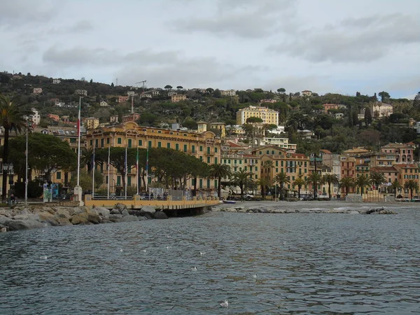
[[[0,71],[405,97],[420,0],[1,0]]]

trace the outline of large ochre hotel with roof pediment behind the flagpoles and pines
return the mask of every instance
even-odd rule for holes
[[[209,165],[221,162],[221,141],[216,139],[214,132],[185,132],[181,130],[168,130],[153,127],[143,127],[134,122],[123,123],[104,128],[90,130],[87,135],[87,148],[123,147],[123,148],[171,148],[195,156]],[[105,183],[110,180],[113,190],[122,183],[121,175],[111,166],[108,179],[106,165],[101,169]],[[137,174],[127,174],[127,186],[136,186]],[[193,187],[193,180],[188,185]],[[198,179],[198,189],[214,189],[217,180]]]

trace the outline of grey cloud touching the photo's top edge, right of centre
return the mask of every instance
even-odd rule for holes
[[[243,38],[262,38],[290,22],[293,3],[290,0],[221,0],[210,18],[184,18],[172,25],[179,31],[205,31]],[[287,14],[286,14],[287,13]],[[290,24],[289,24],[290,25]]]

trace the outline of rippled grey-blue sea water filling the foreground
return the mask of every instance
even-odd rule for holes
[[[420,210],[398,213],[3,233],[0,314],[420,314]]]

